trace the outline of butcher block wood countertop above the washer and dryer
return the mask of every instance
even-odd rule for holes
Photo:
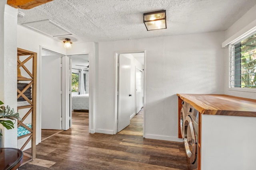
[[[177,94],[201,114],[256,117],[256,100],[224,94]]]

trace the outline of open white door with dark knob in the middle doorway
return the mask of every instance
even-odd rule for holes
[[[130,125],[130,115],[132,107],[132,98],[130,93],[131,60],[119,55],[118,66],[118,124],[117,131]]]

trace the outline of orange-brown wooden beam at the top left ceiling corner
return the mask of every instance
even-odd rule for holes
[[[14,8],[29,10],[51,1],[53,0],[7,0],[7,4]]]

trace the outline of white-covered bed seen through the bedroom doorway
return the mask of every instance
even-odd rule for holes
[[[72,109],[76,110],[89,110],[89,94],[80,94],[72,96]]]

